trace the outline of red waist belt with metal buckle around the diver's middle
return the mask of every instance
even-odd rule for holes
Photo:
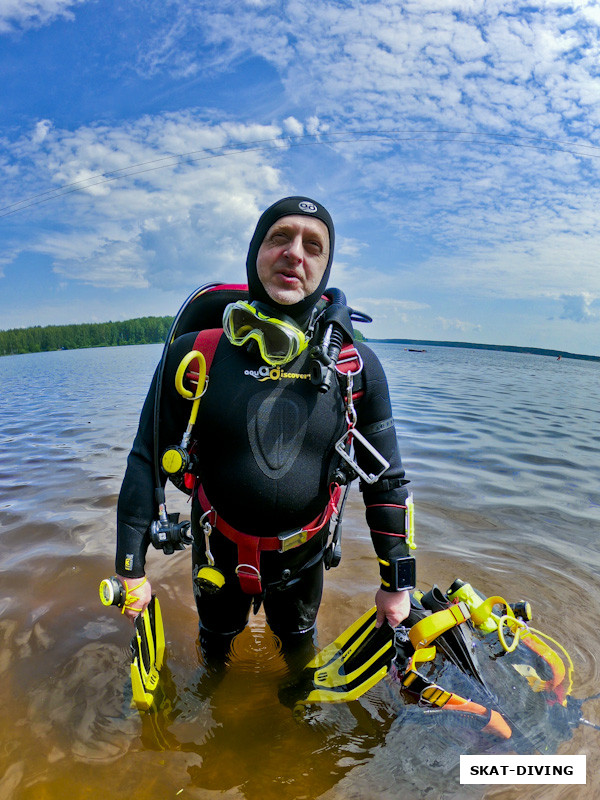
[[[201,484],[198,486],[198,501],[202,511],[208,514],[208,521],[211,527],[216,528],[223,536],[237,545],[238,564],[235,568],[235,573],[238,576],[242,591],[246,594],[256,595],[262,592],[260,575],[261,552],[263,550],[275,550],[279,553],[285,553],[308,542],[315,534],[323,530],[333,514],[337,513],[337,503],[341,493],[341,486],[333,484],[329,503],[316,519],[299,530],[282,533],[279,536],[253,536],[250,533],[238,531],[226,522],[222,516],[217,514]]]

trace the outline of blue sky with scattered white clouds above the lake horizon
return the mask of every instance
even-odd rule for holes
[[[174,314],[331,211],[367,335],[600,355],[596,0],[0,0],[0,328]]]

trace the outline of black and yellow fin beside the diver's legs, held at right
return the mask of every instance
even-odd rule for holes
[[[367,611],[304,668],[296,686],[296,705],[356,700],[387,674],[394,631],[387,622],[375,627],[377,610]]]

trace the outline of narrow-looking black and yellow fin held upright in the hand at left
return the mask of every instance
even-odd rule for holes
[[[148,711],[154,701],[160,668],[165,655],[165,631],[156,596],[135,619],[131,640],[131,687],[133,702],[140,711]]]

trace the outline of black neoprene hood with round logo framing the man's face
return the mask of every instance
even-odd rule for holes
[[[281,217],[287,217],[291,214],[300,214],[301,216],[305,217],[316,217],[317,219],[320,219],[321,222],[325,223],[327,230],[329,231],[329,259],[327,261],[327,266],[325,267],[325,272],[323,273],[321,282],[315,291],[312,294],[309,294],[303,300],[300,300],[299,303],[295,303],[291,306],[284,306],[280,303],[276,303],[265,291],[265,287],[262,285],[258,277],[258,272],[256,269],[256,257],[271,225],[277,222],[278,219],[281,219]],[[248,276],[250,300],[258,300],[261,303],[266,303],[271,307],[279,309],[283,313],[295,319],[297,322],[304,321],[308,316],[308,312],[314,307],[327,287],[329,273],[331,272],[331,263],[333,261],[334,244],[335,230],[333,227],[333,220],[331,219],[327,209],[320,203],[317,203],[315,200],[311,200],[310,197],[284,197],[283,200],[278,200],[276,203],[273,203],[273,205],[269,206],[269,208],[267,208],[267,210],[258,220],[256,229],[252,239],[250,240],[250,247],[248,248],[246,273]]]

